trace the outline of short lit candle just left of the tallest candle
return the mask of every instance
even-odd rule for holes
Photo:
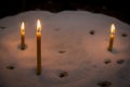
[[[25,23],[22,22],[21,25],[21,49],[25,49]]]

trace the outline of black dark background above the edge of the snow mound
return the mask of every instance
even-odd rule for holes
[[[130,24],[129,5],[127,0],[1,0],[0,18],[37,9],[54,13],[84,10],[110,15]]]

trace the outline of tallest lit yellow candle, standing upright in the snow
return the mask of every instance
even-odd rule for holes
[[[37,21],[37,75],[41,74],[41,23]]]

